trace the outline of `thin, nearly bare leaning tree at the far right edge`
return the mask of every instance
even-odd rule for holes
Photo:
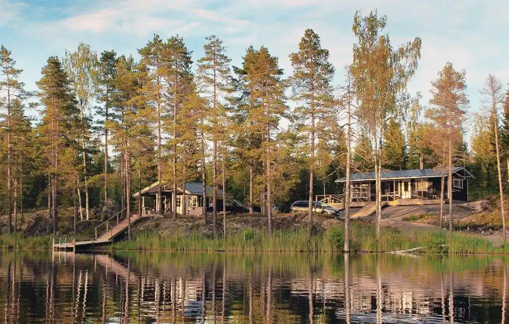
[[[483,89],[480,90],[480,94],[485,96],[483,103],[485,108],[490,111],[490,120],[494,129],[495,135],[495,152],[497,156],[497,172],[498,172],[498,190],[500,195],[500,211],[502,214],[502,231],[504,244],[507,242],[507,235],[505,233],[505,206],[504,206],[504,191],[502,186],[502,167],[500,165],[500,136],[499,136],[499,125],[498,125],[498,114],[500,105],[504,103],[504,90],[502,83],[493,75],[489,74],[486,78]]]

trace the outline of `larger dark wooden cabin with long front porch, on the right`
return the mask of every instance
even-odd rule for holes
[[[382,171],[382,201],[388,201],[389,204],[397,204],[398,201],[402,200],[414,200],[414,202],[420,203],[440,203],[442,175],[445,178],[443,199],[449,199],[447,196],[447,178],[449,176],[447,168]],[[469,178],[473,178],[473,175],[464,167],[454,167],[452,195],[454,201],[468,201]],[[345,183],[346,178],[338,179],[335,182]],[[350,186],[351,202],[375,201],[375,172],[357,172],[352,174],[350,176]]]

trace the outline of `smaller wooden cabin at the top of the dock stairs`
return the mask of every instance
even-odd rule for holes
[[[206,195],[210,197],[212,195],[212,187],[206,186]],[[187,208],[187,213],[191,215],[202,215],[203,208],[208,207],[209,199],[203,201],[203,190],[204,187],[198,182],[186,182],[185,183],[185,201],[184,190],[182,185],[177,186],[177,194],[173,194],[173,185],[165,184],[161,188],[161,197],[159,197],[159,183],[155,182],[152,185],[144,188],[142,193],[142,214],[157,214],[159,213],[159,199],[162,200],[163,213],[172,212],[172,202],[176,199],[177,213],[184,214],[184,208]],[[221,188],[217,188],[217,196],[222,196]],[[138,192],[133,194],[134,198],[138,197]]]

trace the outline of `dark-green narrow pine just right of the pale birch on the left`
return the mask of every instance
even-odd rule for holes
[[[99,58],[98,69],[98,100],[103,106],[98,108],[98,113],[104,117],[104,203],[108,200],[108,121],[112,117],[111,110],[114,105],[115,86],[113,84],[117,76],[115,64],[117,62],[117,52],[114,50],[103,51]]]

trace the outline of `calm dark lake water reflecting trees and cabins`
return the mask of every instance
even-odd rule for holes
[[[6,323],[504,322],[507,259],[0,253]]]

